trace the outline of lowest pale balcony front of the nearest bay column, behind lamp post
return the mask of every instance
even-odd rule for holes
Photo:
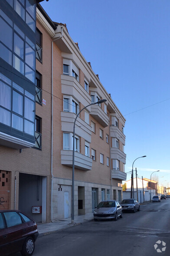
[[[61,164],[72,167],[72,150],[61,150]],[[75,168],[79,170],[92,170],[92,158],[75,152]]]

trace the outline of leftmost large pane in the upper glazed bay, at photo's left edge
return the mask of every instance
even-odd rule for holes
[[[2,18],[0,18],[0,40],[12,50],[13,30]]]

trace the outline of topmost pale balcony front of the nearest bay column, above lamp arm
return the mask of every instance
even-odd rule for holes
[[[83,106],[91,104],[91,96],[85,91],[84,87],[75,79],[68,75],[61,75],[62,94],[73,96]],[[90,107],[87,108],[90,111]]]

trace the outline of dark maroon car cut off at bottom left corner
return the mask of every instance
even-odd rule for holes
[[[16,210],[0,210],[0,256],[21,252],[31,256],[38,236],[36,222]]]

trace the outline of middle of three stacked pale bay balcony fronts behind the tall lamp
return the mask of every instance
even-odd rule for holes
[[[73,132],[75,117],[75,113],[61,112],[62,131]],[[91,143],[92,127],[79,117],[76,120],[75,127],[76,135]]]

